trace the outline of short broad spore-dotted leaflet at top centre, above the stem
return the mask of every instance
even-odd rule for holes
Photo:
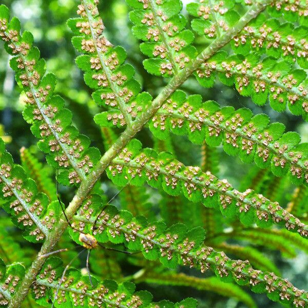
[[[150,74],[170,77],[190,64],[197,55],[190,45],[195,37],[190,30],[183,30],[187,21],[179,14],[180,0],[126,2],[134,9],[129,14],[132,32],[144,41],[140,49],[149,57],[143,65]]]

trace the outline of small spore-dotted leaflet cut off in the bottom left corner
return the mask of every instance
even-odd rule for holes
[[[0,301],[2,307],[8,306],[24,275],[25,267],[21,263],[6,266],[3,260],[0,259]]]

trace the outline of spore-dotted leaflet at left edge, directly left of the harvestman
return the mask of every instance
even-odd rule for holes
[[[26,177],[24,169],[13,163],[2,139],[0,166],[2,207],[12,216],[14,224],[25,231],[24,237],[28,241],[43,240],[60,216],[59,204],[49,204],[48,197],[38,192],[35,182]]]

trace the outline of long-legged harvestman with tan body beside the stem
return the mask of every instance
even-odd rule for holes
[[[59,169],[57,169],[57,177],[59,176]],[[93,223],[93,227],[92,227],[92,234],[89,234],[89,233],[84,233],[78,229],[76,229],[75,227],[72,226],[72,224],[70,223],[70,221],[68,220],[66,214],[65,214],[65,209],[63,207],[63,204],[60,200],[60,195],[59,195],[59,183],[56,181],[56,196],[57,196],[57,199],[60,203],[60,206],[61,206],[61,209],[62,209],[62,212],[63,212],[63,215],[67,221],[67,223],[69,224],[69,226],[75,230],[76,232],[79,233],[79,240],[80,242],[82,242],[82,245],[84,247],[84,249],[82,249],[81,252],[78,253],[78,255],[76,255],[67,265],[66,267],[64,268],[64,271],[63,271],[63,274],[61,276],[61,279],[59,281],[59,284],[57,286],[57,289],[56,289],[56,292],[55,292],[55,295],[54,295],[54,301],[56,300],[57,298],[57,295],[60,291],[60,287],[61,287],[61,284],[64,280],[64,276],[68,270],[68,268],[70,267],[70,265],[74,262],[75,259],[77,259],[84,251],[88,251],[88,254],[87,254],[87,260],[86,260],[86,267],[87,267],[87,272],[88,272],[88,275],[89,275],[89,280],[90,280],[90,283],[91,283],[91,286],[93,287],[93,283],[92,283],[92,278],[91,278],[91,275],[90,275],[90,268],[89,268],[89,258],[90,258],[90,253],[92,251],[92,249],[95,249],[97,248],[98,246],[101,246],[102,248],[106,249],[106,250],[110,250],[110,251],[115,251],[115,252],[120,252],[120,253],[124,253],[124,254],[128,254],[128,255],[132,255],[132,254],[136,254],[136,253],[139,253],[139,252],[134,252],[134,253],[131,253],[131,252],[127,252],[127,251],[122,251],[122,250],[119,250],[119,249],[115,249],[115,248],[108,248],[108,247],[105,247],[104,245],[102,245],[100,242],[98,242],[98,240],[94,237],[94,230],[97,229],[97,227],[95,227],[95,225],[97,224],[101,214],[103,213],[103,211],[105,210],[105,208],[110,205],[110,202],[115,198],[117,197],[120,192],[129,184],[129,182],[132,180],[133,178],[131,178],[127,184],[125,186],[123,186],[118,192],[117,194],[115,194],[109,201],[108,203],[103,207],[103,209],[100,211],[99,215],[95,218],[94,220],[94,223]],[[41,258],[44,258],[44,257],[48,257],[50,255],[53,255],[53,254],[56,254],[56,253],[60,253],[60,252],[65,252],[65,251],[68,251],[67,248],[63,248],[63,249],[58,249],[54,252],[50,252],[50,253],[47,253],[45,255],[42,255]],[[53,308],[54,306],[54,301],[52,302],[52,306],[51,308]]]

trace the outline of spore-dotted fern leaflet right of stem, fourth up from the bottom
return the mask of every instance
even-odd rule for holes
[[[149,124],[159,139],[167,134],[186,134],[191,142],[209,146],[223,144],[228,155],[238,155],[245,163],[271,167],[275,176],[288,172],[295,184],[308,183],[307,143],[300,143],[296,132],[284,133],[281,123],[269,124],[269,117],[249,109],[220,108],[216,102],[202,103],[200,95],[186,98],[176,91],[158,110]]]

